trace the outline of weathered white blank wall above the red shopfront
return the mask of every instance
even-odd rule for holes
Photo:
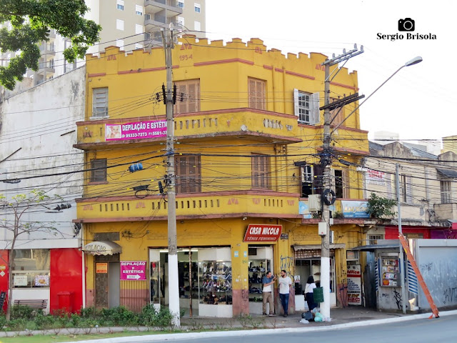
[[[76,69],[0,104],[0,180],[84,169],[84,154],[74,149],[73,144],[76,143],[76,121],[84,119],[85,71],[85,67]],[[71,221],[76,219],[74,199],[81,197],[82,184],[82,173],[22,179],[16,184],[0,182],[0,194],[7,198],[41,189],[49,196],[59,194],[62,202],[72,205],[71,209],[58,213],[46,213],[46,208],[37,207],[24,214],[24,221],[46,222],[58,230],[55,235],[36,232],[19,237],[16,249],[80,247]],[[50,204],[49,208],[56,205]],[[4,215],[0,209],[0,217]],[[9,233],[0,232],[0,247],[9,244]]]

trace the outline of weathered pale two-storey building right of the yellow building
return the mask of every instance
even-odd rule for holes
[[[407,238],[457,238],[457,154],[428,154],[410,144],[381,146],[370,142],[366,158],[366,192],[396,199],[399,164],[401,222]],[[394,209],[396,211],[396,209]],[[368,232],[368,240],[397,239],[398,219]],[[371,243],[371,242],[370,242]]]

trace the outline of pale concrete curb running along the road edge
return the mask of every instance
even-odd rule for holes
[[[457,310],[441,312],[440,317],[446,317],[457,314]],[[395,318],[371,319],[360,322],[351,322],[345,324],[328,325],[324,327],[285,327],[279,329],[256,329],[256,330],[236,330],[236,331],[216,331],[216,332],[183,332],[179,334],[150,334],[144,336],[129,336],[129,337],[113,337],[104,339],[89,339],[85,341],[69,342],[69,343],[139,343],[146,341],[163,341],[174,339],[198,339],[198,338],[218,338],[218,337],[246,337],[258,336],[261,334],[281,334],[281,333],[297,333],[297,332],[318,332],[327,330],[346,329],[350,327],[366,327],[369,325],[388,324],[394,322],[407,322],[415,319],[425,319],[430,317],[430,313],[412,314]],[[308,325],[308,324],[303,324]]]

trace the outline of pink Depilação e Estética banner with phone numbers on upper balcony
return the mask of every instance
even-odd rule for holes
[[[105,124],[106,141],[125,141],[166,137],[166,120],[136,121],[125,124]]]

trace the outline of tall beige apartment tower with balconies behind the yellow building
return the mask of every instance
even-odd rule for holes
[[[100,44],[91,46],[89,54],[113,45],[124,51],[161,45],[160,29],[171,23],[197,37],[206,36],[206,0],[86,0],[86,4],[91,9],[86,18],[102,27]],[[6,22],[4,26],[11,27],[11,24]],[[0,98],[6,99],[82,66],[84,60],[68,63],[64,59],[64,49],[70,44],[69,39],[51,30],[49,41],[40,46],[38,71],[27,71],[24,81],[18,82],[14,91],[2,89]],[[1,65],[6,66],[14,56],[14,51],[0,51]]]

